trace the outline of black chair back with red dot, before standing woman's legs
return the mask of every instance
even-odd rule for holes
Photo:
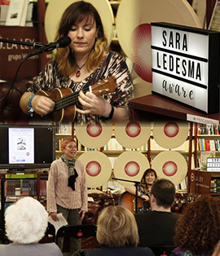
[[[56,236],[55,243],[58,243],[59,237],[73,237],[73,238],[85,238],[90,236],[96,236],[97,226],[92,224],[84,224],[84,225],[66,225],[63,227],[59,227]]]

